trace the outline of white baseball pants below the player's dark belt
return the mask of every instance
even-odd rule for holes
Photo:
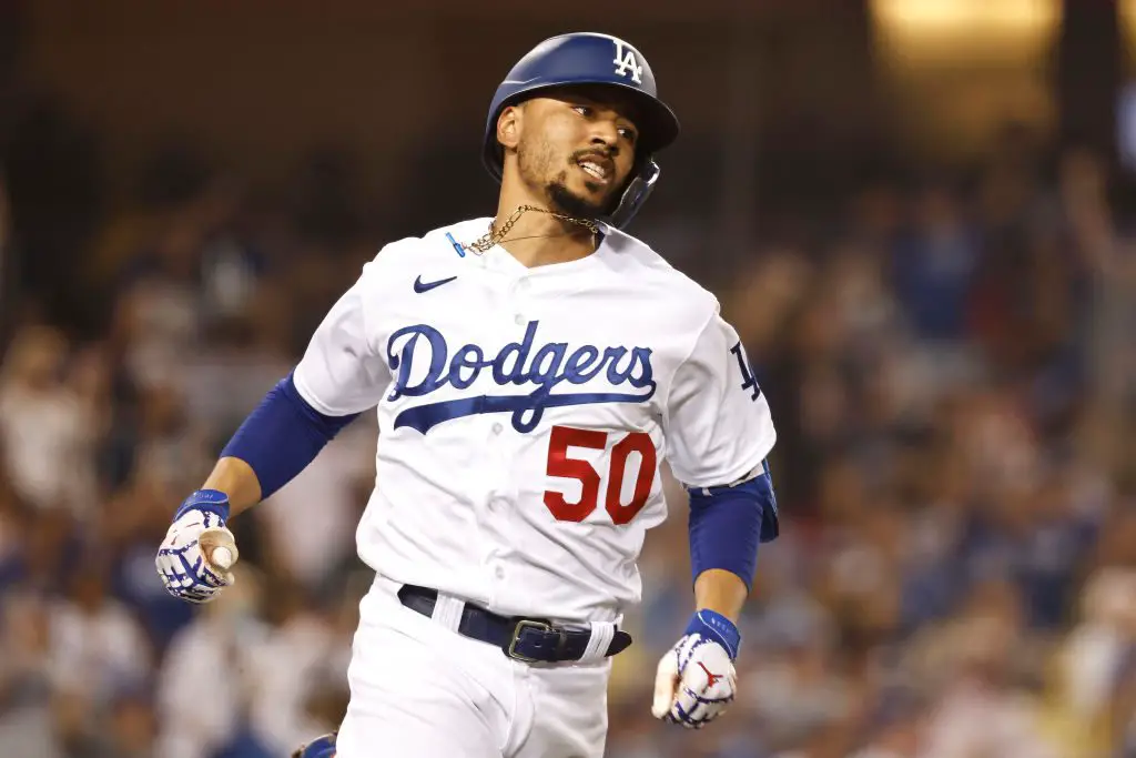
[[[610,659],[511,660],[398,589],[378,577],[364,598],[337,758],[602,758]]]

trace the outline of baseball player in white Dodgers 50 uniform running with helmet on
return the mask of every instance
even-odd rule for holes
[[[734,699],[775,433],[715,297],[621,231],[677,134],[628,42],[533,49],[486,122],[496,215],[386,244],[176,511],[158,572],[206,602],[233,578],[228,519],[377,408],[350,705],[299,755],[602,756],[663,461],[691,494],[694,602],[652,710],[698,728]]]

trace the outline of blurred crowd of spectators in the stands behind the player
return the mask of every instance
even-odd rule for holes
[[[782,536],[738,700],[696,733],[659,724],[654,666],[692,602],[668,477],[610,758],[1136,756],[1136,230],[1100,156],[1004,147],[712,261],[652,240],[725,272],[779,431]],[[74,273],[105,314],[82,328],[10,297],[0,264],[3,756],[278,758],[345,705],[373,418],[233,522],[215,603],[169,598],[153,552],[384,240],[326,186],[307,214],[189,186],[109,215]]]

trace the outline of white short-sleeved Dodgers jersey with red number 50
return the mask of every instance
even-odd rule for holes
[[[641,241],[528,268],[490,218],[384,247],[316,331],[300,394],[377,406],[360,558],[506,615],[617,620],[667,515],[659,466],[727,484],[774,444],[765,395],[717,300]],[[319,507],[314,503],[312,507]]]

